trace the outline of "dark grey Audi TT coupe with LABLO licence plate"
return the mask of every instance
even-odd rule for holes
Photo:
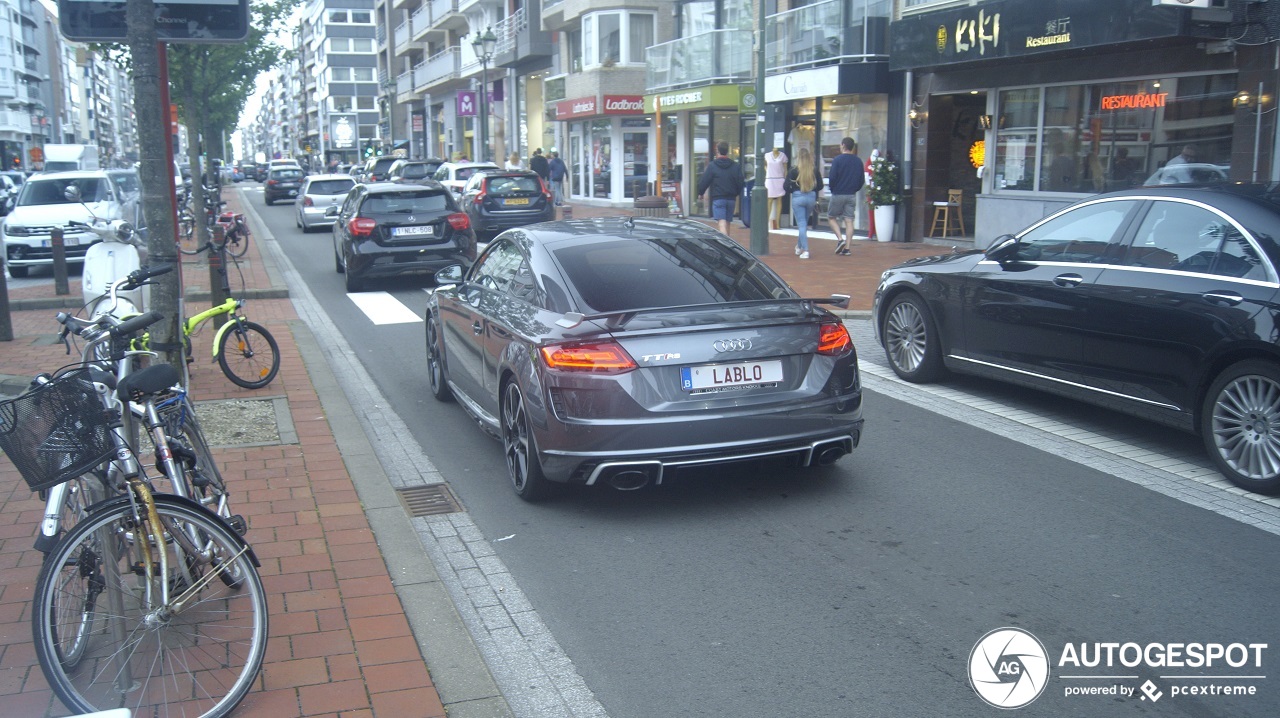
[[[428,380],[500,438],[516,493],[682,467],[835,462],[861,435],[841,320],[692,220],[548,221],[436,273]]]

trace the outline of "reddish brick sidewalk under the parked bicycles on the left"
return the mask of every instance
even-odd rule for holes
[[[250,288],[271,278],[257,242],[244,261]],[[188,292],[207,287],[207,267],[183,257]],[[238,287],[232,278],[233,292]],[[14,298],[51,296],[52,285]],[[188,296],[191,296],[188,293]],[[79,283],[68,302],[79,305]],[[188,312],[207,306],[191,302]],[[195,310],[195,311],[193,311]],[[67,365],[54,342],[56,310],[12,312],[13,342],[0,342],[0,371],[31,376]],[[197,335],[192,395],[204,399],[285,397],[292,444],[215,449],[234,509],[262,562],[270,607],[266,662],[237,717],[443,717],[444,708],[374,540],[334,433],[298,353],[306,331],[288,299],[257,299],[246,314],[280,344],[280,374],[251,392],[228,381],[210,358],[214,330]],[[36,662],[31,604],[41,554],[32,549],[44,504],[9,461],[0,459],[0,708],[3,715],[67,715]]]

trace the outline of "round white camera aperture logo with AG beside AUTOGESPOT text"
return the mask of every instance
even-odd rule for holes
[[[1021,628],[996,628],[969,654],[969,683],[995,708],[1021,708],[1048,685],[1048,651]]]

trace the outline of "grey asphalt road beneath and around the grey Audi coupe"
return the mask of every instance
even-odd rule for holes
[[[1033,632],[1055,664],[1069,642],[1280,635],[1270,609],[1280,577],[1266,570],[1280,509],[1215,486],[1193,438],[988,383],[902,385],[865,323],[850,324],[864,352],[867,436],[836,466],[722,470],[659,490],[526,504],[506,485],[498,444],[426,392],[421,323],[375,324],[342,291],[328,234],[302,235],[291,209],[248,196],[388,411],[461,498],[483,534],[467,550],[481,567],[500,562],[508,590],[531,604],[512,627],[484,600],[502,587],[462,586],[481,646],[509,657],[503,641],[529,639],[524,658],[563,677],[558,698],[577,714],[989,715],[966,664],[1001,626]],[[419,317],[424,287],[387,284]],[[1276,715],[1280,689],[1239,677],[1266,674],[1268,659],[1263,650],[1261,667],[1212,672],[1055,666],[1036,709]],[[536,706],[539,695],[516,695],[538,692],[521,673],[495,668],[513,706]],[[1155,704],[1065,696],[1148,680]],[[1253,685],[1257,695],[1172,695],[1208,685]],[[594,700],[573,694],[586,690]]]

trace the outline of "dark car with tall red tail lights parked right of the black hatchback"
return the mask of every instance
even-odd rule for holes
[[[462,207],[476,237],[556,219],[552,191],[532,172],[477,172],[462,188]]]

